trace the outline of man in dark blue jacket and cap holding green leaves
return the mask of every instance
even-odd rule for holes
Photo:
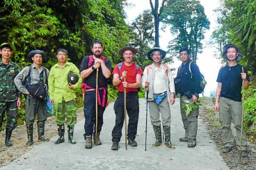
[[[195,102],[198,101],[200,71],[198,65],[191,62],[190,52],[186,46],[179,49],[179,59],[182,61],[182,65],[179,67],[175,78],[175,90],[180,94],[180,112],[185,130],[185,136],[179,138],[179,141],[188,142],[188,147],[193,148],[196,145],[199,110],[198,108],[193,109],[186,116],[182,103],[186,104],[186,101],[189,101],[195,105]]]

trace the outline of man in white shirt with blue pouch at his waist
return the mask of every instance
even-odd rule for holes
[[[150,107],[150,119],[154,128],[156,142],[153,146],[162,144],[161,121],[165,135],[165,145],[173,148],[170,142],[170,105],[175,103],[175,87],[173,74],[170,67],[161,64],[161,60],[165,58],[166,51],[155,47],[147,53],[147,58],[152,60],[152,65],[148,65],[143,72],[142,86],[148,91],[148,98],[145,97]],[[159,119],[161,112],[161,120]]]

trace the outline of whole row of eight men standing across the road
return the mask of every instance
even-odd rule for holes
[[[15,46],[3,43],[0,47],[2,56],[0,60],[0,74],[2,75],[0,76],[0,128],[3,116],[7,113],[6,146],[12,146],[10,135],[16,127],[17,107],[21,105],[21,92],[26,94],[26,128],[28,134],[26,144],[33,144],[35,114],[38,114],[38,140],[49,140],[45,138],[45,121],[47,119],[45,98],[37,99],[28,90],[29,85],[40,82],[49,95],[49,102],[54,105],[59,135],[55,144],[61,144],[65,141],[65,124],[68,128],[68,141],[71,144],[76,143],[73,139],[74,124],[77,122],[74,90],[80,88],[81,85],[84,92],[85,133],[83,136],[86,140],[85,148],[92,148],[93,141],[95,145],[102,144],[99,135],[102,130],[104,110],[108,105],[107,88],[111,74],[113,74],[113,85],[118,86],[118,98],[114,103],[115,126],[112,130],[112,150],[116,151],[120,147],[125,106],[129,116],[128,144],[137,146],[135,138],[139,114],[138,89],[141,86],[146,90],[145,99],[149,103],[150,119],[156,138],[153,145],[160,146],[163,142],[162,124],[164,144],[173,148],[170,139],[170,105],[175,103],[176,93],[180,94],[180,109],[185,131],[184,137],[181,137],[179,141],[188,142],[188,147],[196,146],[199,110],[198,108],[193,109],[189,115],[186,115],[182,103],[190,101],[195,104],[198,101],[200,71],[198,65],[191,61],[189,49],[185,46],[179,50],[179,59],[182,61],[182,65],[178,69],[175,80],[170,67],[161,63],[166,56],[166,51],[159,48],[154,48],[147,53],[148,59],[152,60],[152,65],[145,67],[144,71],[133,62],[134,55],[137,53],[136,49],[129,46],[121,49],[120,56],[123,57],[124,61],[115,65],[112,72],[111,61],[102,56],[103,45],[99,41],[93,42],[93,55],[83,58],[80,70],[71,62],[67,62],[68,55],[65,49],[58,49],[56,52],[58,63],[51,67],[51,71],[42,67],[42,62],[45,62],[47,57],[45,51],[40,50],[30,51],[27,58],[33,62],[32,65],[19,71],[19,67],[10,60],[11,54],[15,53]],[[242,129],[241,83],[244,81],[243,88],[247,89],[249,78],[246,68],[237,64],[241,60],[241,51],[237,46],[234,44],[224,46],[223,58],[228,61],[228,65],[223,67],[218,74],[215,110],[220,111],[221,129],[225,140],[223,153],[228,153],[232,150],[233,145],[230,120],[234,119],[237,133]],[[70,72],[77,75],[77,80],[74,83],[67,78]],[[242,156],[246,157],[248,153],[245,133],[243,133],[242,139]],[[238,137],[236,142],[239,144]]]

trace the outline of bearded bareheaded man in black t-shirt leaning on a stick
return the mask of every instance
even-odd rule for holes
[[[80,75],[83,78],[83,89],[85,89],[85,99],[83,101],[83,112],[86,118],[84,123],[84,139],[86,139],[85,148],[92,148],[92,138],[96,145],[102,144],[99,139],[99,133],[103,125],[103,112],[107,103],[108,78],[111,76],[111,62],[104,56],[102,42],[93,42],[93,55],[86,56],[81,62]],[[96,133],[96,75],[98,75],[98,92],[97,92],[97,134]],[[92,137],[93,135],[93,137]],[[97,137],[97,139],[96,139]],[[96,143],[97,141],[97,143]]]

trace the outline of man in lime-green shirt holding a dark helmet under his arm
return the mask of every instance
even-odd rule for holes
[[[81,78],[79,69],[72,63],[67,62],[67,51],[65,49],[58,49],[57,55],[58,63],[51,67],[49,73],[49,96],[51,104],[54,104],[54,111],[56,115],[56,124],[58,126],[58,139],[54,144],[61,144],[65,141],[64,133],[67,124],[68,142],[75,144],[73,139],[74,124],[77,123],[76,114],[76,93],[75,89],[81,87]],[[77,74],[79,80],[74,85],[69,83],[67,75],[70,71]]]

